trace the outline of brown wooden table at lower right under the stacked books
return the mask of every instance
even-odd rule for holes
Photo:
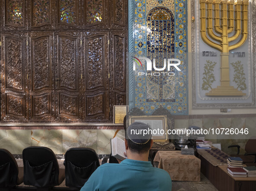
[[[201,159],[201,172],[219,191],[256,191],[256,177],[233,177],[227,172],[227,165],[214,166],[204,157]]]

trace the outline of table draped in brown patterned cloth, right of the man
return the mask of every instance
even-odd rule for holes
[[[181,155],[181,151],[158,151],[154,162],[169,173],[173,181],[200,181],[201,161],[194,155]]]

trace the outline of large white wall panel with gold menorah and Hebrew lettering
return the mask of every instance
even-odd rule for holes
[[[192,107],[256,107],[255,0],[191,0],[191,15]]]

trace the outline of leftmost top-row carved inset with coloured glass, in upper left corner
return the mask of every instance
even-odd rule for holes
[[[9,0],[6,2],[6,17],[8,23],[23,26],[23,1]]]

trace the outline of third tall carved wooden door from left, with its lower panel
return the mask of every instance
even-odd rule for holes
[[[81,120],[80,33],[57,33],[55,96],[57,120]]]

